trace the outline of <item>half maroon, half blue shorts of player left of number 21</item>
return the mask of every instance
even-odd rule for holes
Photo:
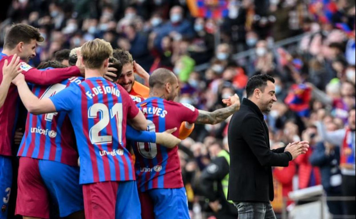
[[[20,158],[16,214],[49,218],[49,202],[56,202],[59,216],[84,210],[79,167],[57,161]]]

